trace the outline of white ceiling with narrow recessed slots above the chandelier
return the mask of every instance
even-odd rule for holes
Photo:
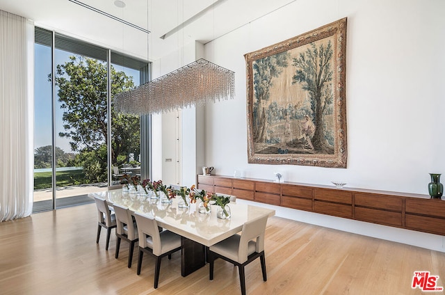
[[[70,0],[0,0],[0,10],[32,19],[44,29],[154,61],[188,42],[205,44],[296,0],[122,0],[124,8],[115,6],[115,0],[78,1],[151,33]]]

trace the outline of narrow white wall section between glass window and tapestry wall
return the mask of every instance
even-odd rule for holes
[[[193,63],[203,55],[204,45],[200,42],[179,47],[153,63],[153,78]],[[203,112],[202,107],[191,107],[152,116],[154,180],[184,186],[195,184],[196,175],[204,166]]]

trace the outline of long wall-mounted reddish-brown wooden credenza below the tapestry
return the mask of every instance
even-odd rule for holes
[[[445,236],[445,201],[428,195],[197,175],[198,189],[270,205]]]

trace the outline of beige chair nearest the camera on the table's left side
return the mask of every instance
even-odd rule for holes
[[[156,257],[154,267],[154,289],[158,287],[159,270],[161,269],[162,257],[168,256],[171,259],[172,253],[181,250],[181,237],[168,230],[159,232],[156,220],[152,217],[134,214],[138,224],[139,234],[139,257],[138,257],[138,275],[142,266],[143,254],[151,253]]]

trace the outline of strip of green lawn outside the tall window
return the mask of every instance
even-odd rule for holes
[[[51,188],[51,172],[34,173],[34,189]],[[56,186],[83,184],[85,173],[82,169],[56,172]]]

